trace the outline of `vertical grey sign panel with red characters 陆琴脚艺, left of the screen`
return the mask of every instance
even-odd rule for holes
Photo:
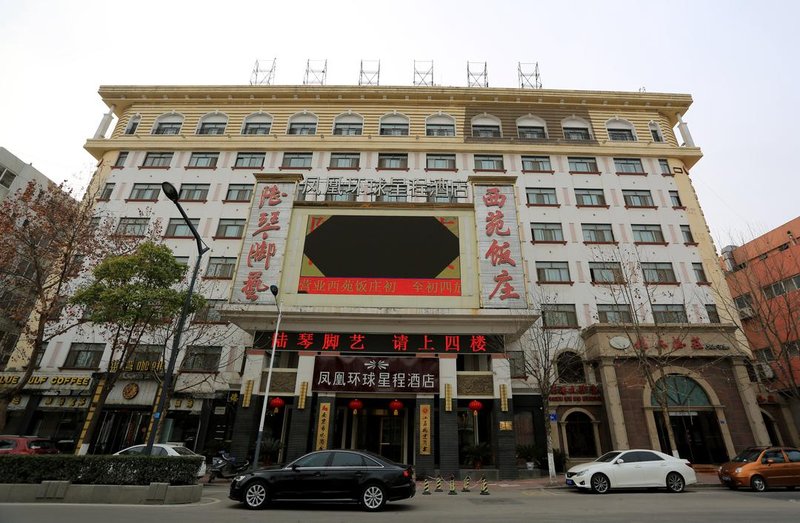
[[[273,303],[269,286],[279,281],[289,232],[294,182],[256,184],[232,303]]]

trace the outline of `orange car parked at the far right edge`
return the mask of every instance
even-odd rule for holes
[[[750,487],[764,492],[770,487],[793,489],[800,485],[800,449],[750,447],[717,471],[720,482],[730,489]]]

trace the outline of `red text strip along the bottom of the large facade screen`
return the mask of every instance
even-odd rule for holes
[[[300,294],[364,296],[461,296],[457,278],[328,278],[300,276]]]

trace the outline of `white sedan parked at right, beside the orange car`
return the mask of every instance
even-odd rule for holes
[[[697,483],[697,474],[688,460],[656,450],[634,449],[607,452],[590,463],[567,471],[567,485],[605,494],[617,488],[663,487],[683,492]]]

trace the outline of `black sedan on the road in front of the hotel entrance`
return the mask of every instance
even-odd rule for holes
[[[233,478],[229,497],[247,508],[271,501],[350,501],[368,511],[416,493],[414,470],[376,454],[354,450],[311,452],[285,467]]]

